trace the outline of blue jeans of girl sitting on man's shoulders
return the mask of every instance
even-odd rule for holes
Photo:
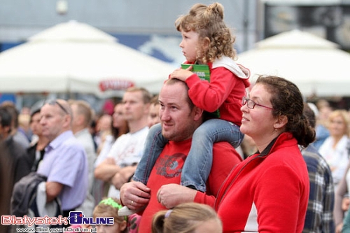
[[[213,144],[228,141],[237,148],[244,137],[239,127],[221,119],[207,120],[195,130],[192,144],[181,173],[181,185],[194,186],[196,190],[206,191],[206,183],[213,163]],[[162,136],[160,124],[153,125],[144,147],[144,155],[137,165],[134,181],[146,184],[151,170],[158,159],[167,139]]]

